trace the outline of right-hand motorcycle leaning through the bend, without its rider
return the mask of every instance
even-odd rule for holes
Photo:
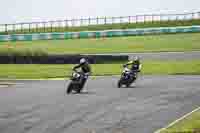
[[[137,79],[137,71],[131,71],[129,68],[124,67],[121,78],[118,81],[118,88],[122,85],[129,87]]]

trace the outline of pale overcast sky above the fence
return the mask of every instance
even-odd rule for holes
[[[200,0],[2,0],[0,23],[199,12]]]

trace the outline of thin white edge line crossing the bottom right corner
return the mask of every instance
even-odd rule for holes
[[[161,129],[157,130],[157,131],[154,132],[154,133],[160,133],[161,131],[166,130],[167,128],[173,126],[173,125],[176,124],[177,122],[183,120],[184,118],[188,117],[189,115],[191,115],[192,113],[194,113],[194,112],[196,112],[196,111],[198,111],[198,110],[200,110],[200,107],[196,108],[195,110],[193,110],[193,111],[190,112],[190,113],[185,114],[185,115],[182,116],[181,118],[179,118],[179,119],[175,120],[174,122],[170,123],[168,126],[166,126],[166,127],[164,127],[164,128],[161,128]]]

